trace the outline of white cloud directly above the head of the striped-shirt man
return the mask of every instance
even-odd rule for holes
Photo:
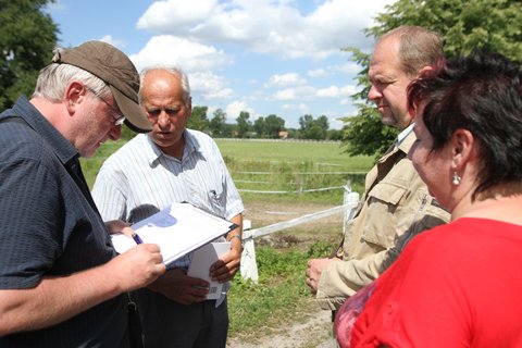
[[[139,70],[153,64],[174,64],[186,73],[210,71],[232,63],[223,50],[171,35],[153,36],[130,60]]]

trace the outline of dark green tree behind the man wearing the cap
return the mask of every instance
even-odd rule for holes
[[[58,29],[42,12],[54,0],[0,0],[0,107],[30,97],[38,72],[52,58]]]

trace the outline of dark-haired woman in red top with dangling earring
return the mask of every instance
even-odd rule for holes
[[[522,347],[520,66],[473,52],[421,76],[408,97],[418,113],[408,156],[451,222],[413,238],[344,304],[339,345]]]

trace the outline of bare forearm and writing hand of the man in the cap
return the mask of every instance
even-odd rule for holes
[[[160,248],[144,244],[103,265],[60,277],[44,277],[34,288],[0,290],[0,336],[63,322],[114,296],[140,288],[165,272]]]

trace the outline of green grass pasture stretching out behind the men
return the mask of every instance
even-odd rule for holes
[[[217,139],[217,146],[239,189],[298,192],[300,190],[339,187],[349,181],[361,191],[364,173],[373,164],[371,157],[349,157],[339,142],[266,141]],[[124,142],[104,144],[82,166],[90,187],[103,161]],[[303,195],[241,194],[246,200],[297,199],[339,203],[343,189]],[[340,201],[339,201],[340,200]]]

